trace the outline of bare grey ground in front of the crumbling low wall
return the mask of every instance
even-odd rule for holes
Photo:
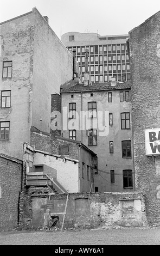
[[[160,245],[160,228],[5,231],[0,245]]]

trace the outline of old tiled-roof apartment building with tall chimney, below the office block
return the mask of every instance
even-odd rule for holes
[[[130,91],[130,81],[89,83],[88,73],[61,87],[62,136],[97,154],[97,191],[135,190]]]

